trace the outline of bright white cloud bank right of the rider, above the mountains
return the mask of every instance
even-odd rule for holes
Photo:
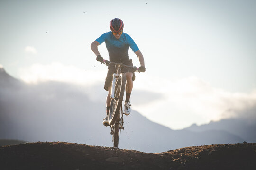
[[[137,81],[138,88],[162,93],[164,97],[144,105],[132,103],[133,108],[150,120],[173,129],[238,117],[256,106],[256,91],[232,93],[213,87],[196,76],[174,81],[144,75],[137,77]]]

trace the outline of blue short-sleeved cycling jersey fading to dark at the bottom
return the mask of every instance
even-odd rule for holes
[[[112,32],[102,34],[95,41],[100,44],[105,42],[107,50],[109,51],[110,61],[112,62],[126,62],[129,60],[128,50],[129,47],[132,51],[139,50],[136,43],[130,37],[130,35],[123,33],[119,39],[116,39]]]

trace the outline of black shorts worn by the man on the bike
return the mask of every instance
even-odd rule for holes
[[[127,62],[124,62],[123,64],[128,65],[128,66],[133,66],[131,59],[128,60]],[[115,66],[109,66],[108,73],[107,73],[106,80],[105,80],[105,85],[104,85],[104,89],[106,91],[108,91],[109,87],[111,87],[112,80],[113,80],[113,74],[116,73],[116,72],[117,72],[117,69],[115,68]],[[126,72],[131,72],[133,74],[132,81],[134,81],[135,80],[135,74],[131,70],[131,68],[122,68],[122,73],[126,73]]]

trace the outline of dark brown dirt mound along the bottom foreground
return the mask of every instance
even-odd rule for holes
[[[251,170],[256,143],[181,148],[164,153],[37,142],[0,147],[1,170]]]

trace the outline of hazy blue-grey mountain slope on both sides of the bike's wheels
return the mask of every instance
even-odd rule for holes
[[[0,138],[30,142],[64,141],[112,146],[110,127],[102,125],[102,89],[62,82],[25,84],[0,71]],[[102,95],[102,100],[88,93]],[[155,113],[157,114],[157,113]],[[242,143],[245,139],[226,128],[172,130],[136,111],[124,117],[119,147],[143,152],[204,145]],[[251,136],[248,131],[248,136]]]

